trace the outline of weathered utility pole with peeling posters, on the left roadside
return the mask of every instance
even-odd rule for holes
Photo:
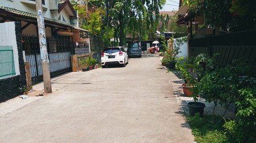
[[[42,0],[36,2],[36,17],[38,19],[38,36],[40,44],[40,55],[42,60],[44,92],[52,93],[51,76],[49,72],[49,59],[46,44],[46,30],[44,28],[44,16],[42,11]]]

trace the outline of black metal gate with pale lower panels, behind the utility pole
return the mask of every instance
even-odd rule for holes
[[[38,36],[22,36],[22,38],[24,41],[23,50],[26,54],[26,60],[30,62],[32,84],[43,81]],[[49,70],[51,72],[51,77],[65,72],[71,72],[72,48],[73,44],[71,37],[61,36],[58,38],[47,38]]]

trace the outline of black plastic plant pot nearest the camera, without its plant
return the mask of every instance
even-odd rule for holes
[[[202,117],[204,114],[204,107],[205,104],[201,102],[188,102],[189,115],[195,116],[195,114],[198,112]]]

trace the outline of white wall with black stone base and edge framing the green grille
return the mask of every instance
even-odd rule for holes
[[[3,29],[5,28],[5,29]],[[15,76],[0,79],[0,102],[7,101],[22,94],[20,89],[26,86],[26,71],[22,53],[20,23],[8,22],[0,24],[0,45],[11,45],[14,49]],[[6,38],[3,38],[6,37]]]

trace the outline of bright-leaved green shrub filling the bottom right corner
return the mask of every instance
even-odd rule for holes
[[[256,142],[256,87],[239,90],[237,120],[225,120],[223,127],[232,142]]]

